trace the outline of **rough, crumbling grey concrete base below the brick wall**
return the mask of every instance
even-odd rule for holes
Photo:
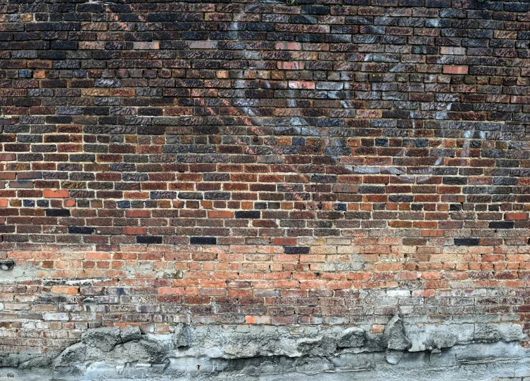
[[[530,353],[514,324],[367,327],[177,325],[87,330],[51,357],[4,356],[1,380],[524,380]]]

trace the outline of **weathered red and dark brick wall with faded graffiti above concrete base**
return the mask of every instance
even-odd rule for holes
[[[528,332],[530,4],[298,2],[0,0],[0,352]]]

